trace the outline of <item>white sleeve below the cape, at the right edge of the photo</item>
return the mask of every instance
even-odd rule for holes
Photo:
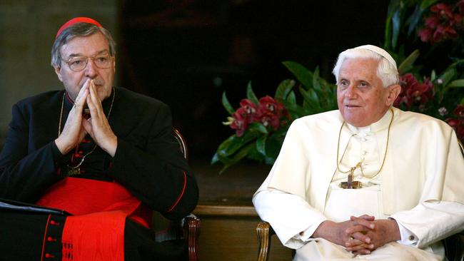
[[[425,247],[464,230],[464,205],[457,202],[420,203],[391,215],[400,227],[403,245]]]

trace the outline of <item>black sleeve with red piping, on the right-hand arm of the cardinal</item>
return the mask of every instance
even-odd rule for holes
[[[183,218],[196,206],[198,186],[173,136],[168,106],[153,113],[145,148],[118,138],[111,173],[153,210],[166,218]]]

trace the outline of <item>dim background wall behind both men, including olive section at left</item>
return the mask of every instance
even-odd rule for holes
[[[116,83],[171,106],[193,158],[206,160],[233,131],[221,124],[226,91],[237,107],[291,77],[282,61],[331,79],[336,55],[383,43],[388,1],[7,0],[0,3],[0,145],[11,105],[62,88],[49,66],[56,30],[74,16],[101,21],[117,40]],[[136,106],[136,105],[134,105]]]

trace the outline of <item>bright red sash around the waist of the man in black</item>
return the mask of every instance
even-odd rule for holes
[[[61,238],[64,261],[122,261],[126,218],[150,224],[151,211],[118,183],[64,178],[36,204],[74,215],[66,218]]]

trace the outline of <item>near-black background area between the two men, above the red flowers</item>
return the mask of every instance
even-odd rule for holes
[[[123,1],[120,83],[168,103],[193,155],[209,158],[251,81],[258,97],[291,77],[293,60],[331,79],[336,55],[383,43],[387,1]]]

